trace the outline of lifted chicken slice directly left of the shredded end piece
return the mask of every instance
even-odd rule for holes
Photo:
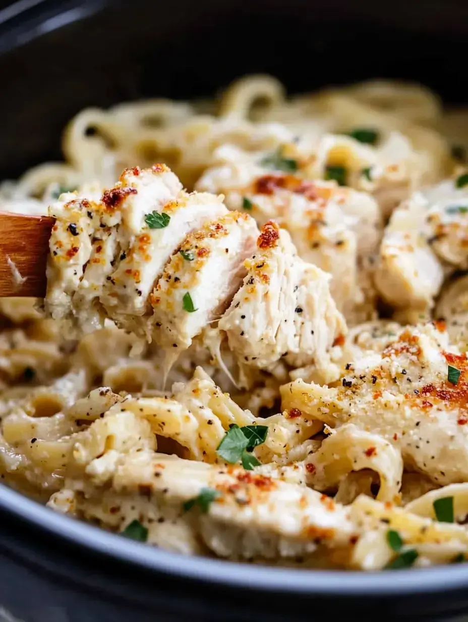
[[[178,348],[177,355],[224,312],[247,273],[244,260],[254,253],[258,235],[253,218],[232,211],[185,238],[150,297],[157,343]]]

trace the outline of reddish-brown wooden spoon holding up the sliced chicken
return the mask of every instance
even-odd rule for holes
[[[51,216],[0,211],[0,298],[45,296],[48,241],[54,223]]]

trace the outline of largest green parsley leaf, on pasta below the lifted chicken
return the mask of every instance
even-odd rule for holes
[[[250,455],[247,452],[252,452],[254,447],[264,443],[267,434],[268,427],[266,425],[244,425],[244,427],[239,427],[236,424],[231,425],[223,440],[219,443],[216,453],[231,464],[241,460],[242,466],[247,471],[251,471],[260,462],[254,455]]]

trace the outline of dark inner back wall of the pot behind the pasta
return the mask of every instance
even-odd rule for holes
[[[3,24],[0,12],[0,179],[60,159],[60,132],[85,106],[213,95],[245,73],[293,92],[418,80],[468,100],[464,0],[24,2]]]

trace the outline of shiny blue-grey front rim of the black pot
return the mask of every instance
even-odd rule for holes
[[[264,592],[303,596],[404,596],[468,587],[468,564],[426,569],[352,572],[264,567],[221,559],[190,557],[150,547],[53,511],[0,485],[0,509],[34,524],[55,538],[146,570]]]

